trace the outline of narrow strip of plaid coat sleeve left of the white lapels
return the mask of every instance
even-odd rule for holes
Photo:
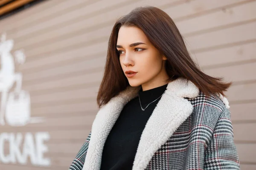
[[[85,157],[86,157],[89,142],[90,142],[90,136],[91,136],[91,132],[89,133],[86,141],[84,142],[83,146],[77,153],[76,158],[70,165],[69,170],[82,170],[83,169]]]

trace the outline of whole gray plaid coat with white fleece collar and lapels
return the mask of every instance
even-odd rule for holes
[[[69,170],[99,170],[108,133],[139,88],[128,87],[100,108]],[[132,170],[239,170],[228,101],[205,96],[186,79],[170,82],[137,147]]]

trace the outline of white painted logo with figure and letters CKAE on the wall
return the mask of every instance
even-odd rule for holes
[[[22,90],[22,73],[15,72],[15,62],[24,64],[26,56],[22,50],[17,50],[14,59],[11,54],[13,45],[14,41],[6,40],[6,34],[3,34],[0,42],[0,125],[20,127],[43,122],[41,117],[31,117],[29,92]],[[10,91],[14,85],[14,90]],[[30,157],[35,166],[49,166],[50,160],[44,158],[44,153],[48,151],[44,141],[49,139],[48,132],[38,132],[34,136],[30,132],[24,136],[21,133],[0,133],[0,162],[26,164]],[[23,152],[20,150],[22,144]],[[5,152],[6,147],[8,154]]]

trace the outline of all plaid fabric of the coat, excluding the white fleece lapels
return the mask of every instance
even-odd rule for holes
[[[240,170],[230,112],[216,95],[188,99],[192,114],[149,161],[146,170]],[[90,134],[69,170],[82,170]]]

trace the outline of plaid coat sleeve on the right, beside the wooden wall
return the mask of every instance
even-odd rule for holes
[[[225,108],[205,150],[204,170],[240,170],[239,156],[233,139],[230,111]]]

